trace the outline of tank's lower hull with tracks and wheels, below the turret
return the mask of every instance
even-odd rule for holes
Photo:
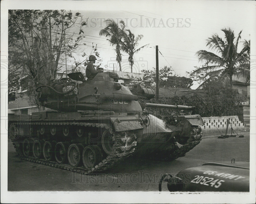
[[[153,115],[139,113],[46,111],[33,113],[28,121],[10,121],[10,124],[9,133],[20,158],[84,174],[106,170],[134,154],[146,158],[168,155],[167,159],[175,159],[201,139],[189,143],[190,148],[184,145],[186,149],[180,151],[175,142],[179,128]],[[58,145],[65,152],[63,161],[56,155],[61,152]],[[47,148],[55,155],[48,154]],[[88,161],[83,159],[87,151],[95,153],[96,163],[89,169]],[[74,152],[78,159],[72,158]]]

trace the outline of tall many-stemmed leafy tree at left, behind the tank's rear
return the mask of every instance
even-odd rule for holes
[[[66,10],[9,10],[8,55],[20,62],[16,66],[22,76],[27,75],[35,93],[37,83],[46,83],[56,77],[59,62],[65,55],[73,57],[84,38],[82,22],[78,37],[70,34],[77,25],[80,13]],[[13,70],[15,71],[15,70]]]

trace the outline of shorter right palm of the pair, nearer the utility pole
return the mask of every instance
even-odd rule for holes
[[[126,32],[128,33],[126,34]],[[122,41],[121,49],[127,54],[129,54],[128,61],[131,65],[131,73],[132,73],[132,66],[134,64],[134,61],[133,61],[134,53],[140,51],[140,49],[148,45],[146,44],[136,49],[136,46],[138,45],[138,42],[142,39],[142,37],[143,35],[138,35],[135,38],[134,34],[129,29],[126,29],[125,31],[123,31],[123,41]]]

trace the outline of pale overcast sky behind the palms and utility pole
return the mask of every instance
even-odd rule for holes
[[[118,7],[117,4],[113,9]],[[142,34],[144,37],[140,46],[149,44],[134,54],[133,72],[140,73],[142,69],[156,66],[155,45],[158,45],[163,55],[159,53],[159,68],[172,66],[173,74],[187,76],[186,71],[201,65],[195,53],[208,50],[206,39],[212,34],[218,33],[223,37],[222,28],[230,27],[235,36],[242,30],[241,40],[250,39],[250,25],[255,17],[251,12],[252,7],[250,1],[148,1],[145,4],[134,2],[127,8],[120,6],[120,9],[111,11],[94,10],[97,6],[93,6],[93,10],[84,10],[82,7],[81,10],[72,11],[81,13],[82,20],[88,18],[84,28],[84,34],[87,35],[84,41],[88,46],[82,50],[90,53],[92,42],[97,43],[102,65],[106,64],[111,69],[117,67],[114,47],[99,35],[106,26],[104,20],[112,18],[115,21],[123,20],[135,35]],[[130,71],[128,56],[123,54],[122,71]],[[195,84],[192,88],[197,86]]]

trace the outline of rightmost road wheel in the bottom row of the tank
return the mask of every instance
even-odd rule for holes
[[[102,153],[98,146],[87,146],[83,149],[82,160],[83,165],[87,170],[92,169],[94,166],[100,163],[102,159]]]

